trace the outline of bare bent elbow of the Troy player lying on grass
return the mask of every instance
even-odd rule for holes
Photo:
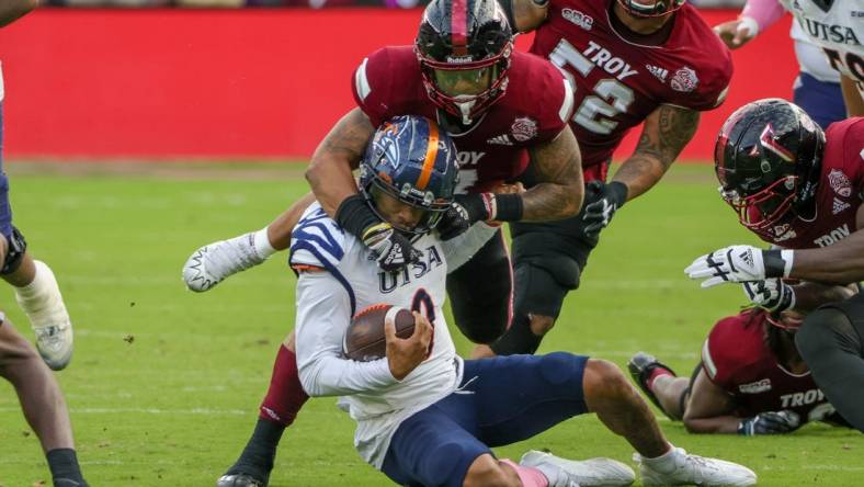
[[[684,427],[691,433],[736,433],[741,418],[735,416],[732,397],[710,382],[704,370],[693,381],[684,410]]]

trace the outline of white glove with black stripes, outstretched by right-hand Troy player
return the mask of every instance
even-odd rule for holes
[[[702,287],[712,287],[725,282],[788,278],[792,271],[792,250],[730,246],[697,258],[684,269],[684,273],[690,279],[704,280]]]

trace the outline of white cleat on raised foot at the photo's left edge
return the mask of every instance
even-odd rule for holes
[[[45,262],[33,263],[36,278],[24,287],[15,287],[15,299],[30,318],[42,360],[52,370],[61,371],[72,360],[72,322],[54,272]]]

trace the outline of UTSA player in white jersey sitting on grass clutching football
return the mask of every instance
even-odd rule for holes
[[[647,405],[609,362],[559,352],[463,361],[446,318],[447,267],[484,245],[470,233],[444,241],[432,230],[454,199],[457,148],[420,116],[386,122],[361,160],[363,204],[396,231],[412,236],[423,258],[407,272],[376,264],[374,250],[345,231],[318,203],[293,231],[298,272],[296,353],[303,387],[341,396],[357,422],[354,443],[370,464],[399,485],[629,485],[618,462],[572,462],[528,452],[516,464],[490,446],[522,441],[568,418],[595,412],[643,457],[646,485],[752,485],[740,465],[686,454],[661,435]],[[344,358],[352,315],[376,304],[414,312],[406,339],[386,324],[386,356]],[[518,389],[523,394],[513,395]]]

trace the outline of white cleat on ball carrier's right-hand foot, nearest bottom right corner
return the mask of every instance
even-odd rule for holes
[[[675,449],[677,455],[661,471],[638,454],[643,485],[698,485],[698,486],[749,486],[755,485],[757,475],[750,468],[725,460],[692,455],[684,449]]]

